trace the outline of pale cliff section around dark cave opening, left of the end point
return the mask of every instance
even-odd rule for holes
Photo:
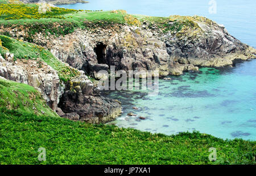
[[[38,34],[36,38],[41,37]],[[39,42],[36,38],[35,42]],[[77,30],[46,40],[44,45],[61,61],[96,78],[99,65],[101,70],[115,66],[115,70],[159,70],[160,74],[168,75],[173,64],[164,42],[138,27]]]

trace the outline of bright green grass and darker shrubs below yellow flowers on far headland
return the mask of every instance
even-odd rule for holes
[[[115,14],[110,11],[94,11],[94,12],[77,12],[75,14],[63,15],[65,19],[58,18],[42,18],[42,19],[19,19],[19,20],[0,20],[3,28],[20,28],[28,35],[24,36],[24,40],[33,42],[35,33],[43,33],[45,36],[48,32],[51,35],[60,36],[72,33],[77,28],[93,29],[96,27],[108,28],[109,25],[123,24],[125,20],[121,13]],[[89,23],[93,22],[93,23]],[[2,33],[2,35],[6,35]]]

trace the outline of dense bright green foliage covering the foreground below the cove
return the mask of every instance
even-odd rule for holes
[[[166,136],[3,109],[0,129],[0,164],[256,164],[255,141],[199,132]],[[40,147],[46,161],[38,161]]]

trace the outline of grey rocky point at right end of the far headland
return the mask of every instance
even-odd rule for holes
[[[255,49],[229,35],[224,25],[199,16],[190,19],[195,27],[159,36],[166,43],[168,54],[175,62],[222,67],[232,65],[234,59],[255,58]]]

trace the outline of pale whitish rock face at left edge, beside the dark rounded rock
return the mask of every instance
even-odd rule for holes
[[[0,76],[36,88],[55,110],[61,94],[57,72],[40,59],[18,59],[15,62],[13,59],[14,55],[10,53],[6,53],[5,59],[0,55]]]

